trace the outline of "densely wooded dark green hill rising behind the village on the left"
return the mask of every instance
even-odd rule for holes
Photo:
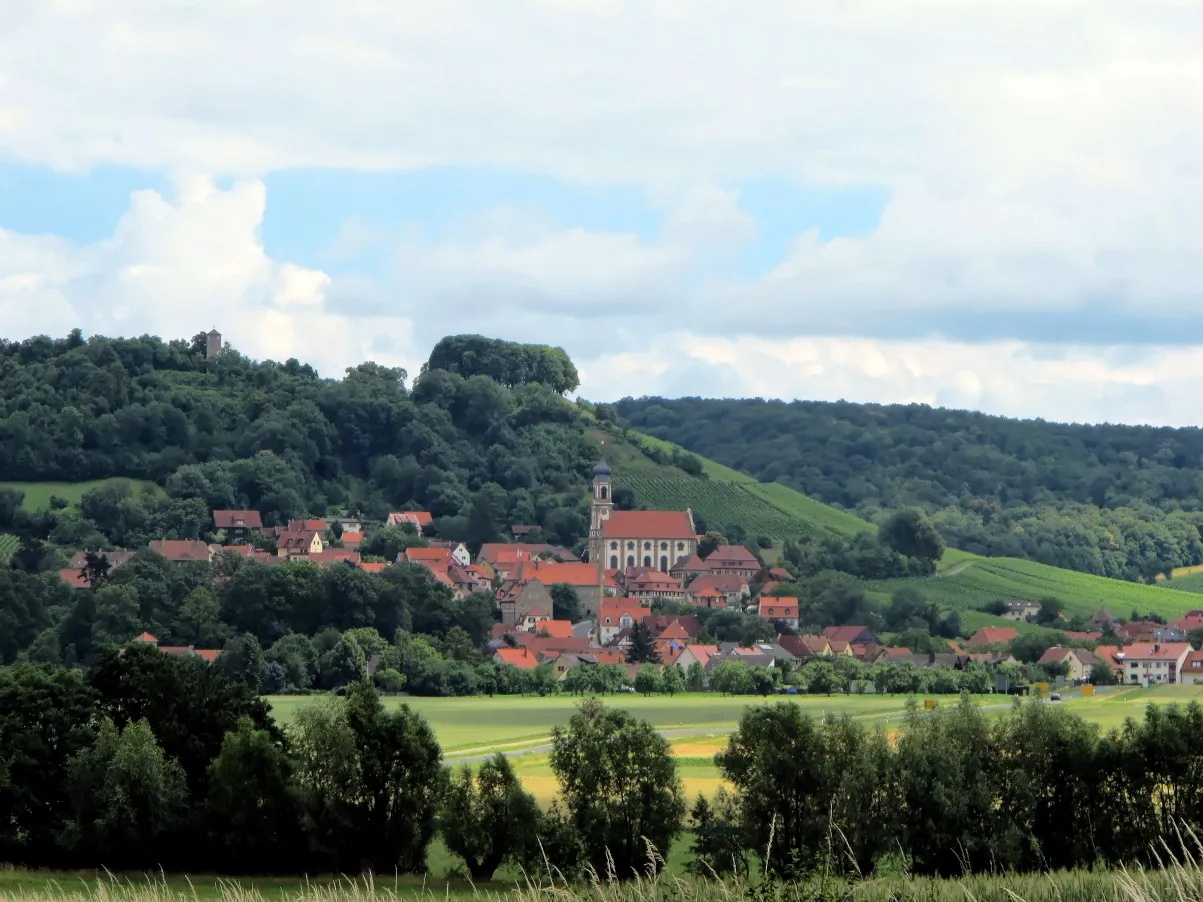
[[[0,342],[0,481],[164,486],[166,499],[126,517],[128,541],[190,538],[212,509],[257,509],[272,524],[332,505],[381,520],[429,510],[449,535],[474,515],[485,533],[517,522],[565,545],[585,535],[598,449],[563,397],[577,376],[562,350],[457,336],[413,388],[407,375],[362,363],[324,379],[229,348],[207,358],[205,336]]]

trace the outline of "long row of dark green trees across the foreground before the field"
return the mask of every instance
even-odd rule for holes
[[[217,670],[152,648],[85,673],[0,667],[0,862],[206,873],[421,872],[434,836],[476,880],[512,864],[620,879],[693,826],[699,873],[1134,866],[1203,829],[1197,705],[1097,728],[1039,702],[991,719],[912,704],[887,735],[749,707],[687,801],[666,741],[586,700],[556,728],[544,811],[504,756],[443,765],[426,722],[356,683],[286,729]],[[638,766],[632,766],[638,761]]]

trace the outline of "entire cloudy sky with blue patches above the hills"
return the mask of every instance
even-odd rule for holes
[[[1199,422],[1192,0],[12,6],[10,339]]]

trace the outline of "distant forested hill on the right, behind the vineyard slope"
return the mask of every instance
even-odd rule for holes
[[[932,514],[955,547],[1120,578],[1199,563],[1203,431],[921,404],[627,398],[627,426],[867,520]]]

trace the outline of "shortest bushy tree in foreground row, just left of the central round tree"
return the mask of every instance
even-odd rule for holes
[[[539,821],[538,802],[522,789],[509,759],[498,752],[480,765],[475,779],[468,765],[451,777],[439,832],[479,883],[491,880],[506,859],[531,856]]]

